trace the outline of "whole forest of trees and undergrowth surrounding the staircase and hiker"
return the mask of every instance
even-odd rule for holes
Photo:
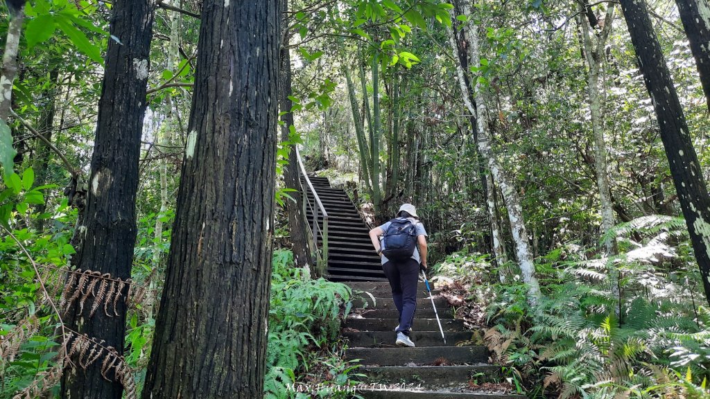
[[[528,397],[710,396],[706,0],[0,16],[0,398],[352,383],[297,146],[371,226],[420,209],[435,280]]]

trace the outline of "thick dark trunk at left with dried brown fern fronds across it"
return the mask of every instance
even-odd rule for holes
[[[146,111],[152,4],[143,0],[114,2],[111,35],[121,44],[109,40],[89,193],[84,218],[77,229],[80,244],[74,257],[79,271],[94,270],[123,281],[131,278],[136,241],[138,156]],[[102,284],[97,283],[95,288],[99,300]],[[117,354],[122,354],[128,286],[122,288],[121,300],[114,302],[117,316],[107,316],[103,306],[92,316],[93,306],[86,305],[81,310],[79,301],[75,301],[65,315],[67,326],[90,339],[105,341],[104,346],[113,346]],[[120,376],[111,371],[107,376],[114,381],[105,379],[102,362],[103,358],[85,371],[80,368],[64,373],[62,398],[121,399],[123,386],[116,381]]]

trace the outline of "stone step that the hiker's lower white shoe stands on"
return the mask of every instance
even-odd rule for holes
[[[446,364],[477,364],[488,361],[486,346],[425,346],[415,348],[349,348],[346,360],[361,359],[366,366],[417,366]]]

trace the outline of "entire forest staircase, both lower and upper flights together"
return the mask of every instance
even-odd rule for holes
[[[479,384],[500,381],[501,368],[488,364],[486,347],[457,346],[466,344],[473,334],[462,320],[454,319],[452,307],[434,291],[447,339],[444,344],[423,283],[410,335],[417,346],[395,346],[399,315],[368,226],[344,190],[330,187],[326,177],[309,174],[309,180],[328,213],[327,279],[346,283],[354,293],[354,311],[344,324],[342,336],[349,341],[346,359],[359,359],[359,372],[366,375],[357,395],[366,399],[524,398],[504,393],[496,384],[481,389]],[[311,192],[305,195],[315,204]],[[306,217],[313,220],[308,207]],[[318,222],[322,223],[322,215]]]

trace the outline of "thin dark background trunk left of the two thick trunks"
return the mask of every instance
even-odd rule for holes
[[[47,141],[52,141],[52,129],[54,126],[54,116],[57,111],[57,87],[59,85],[59,70],[57,68],[50,70],[50,87],[42,93],[42,111],[40,114],[40,121],[37,124],[37,130],[47,139]],[[35,172],[35,185],[45,185],[47,184],[47,178],[49,176],[49,161],[52,158],[52,150],[50,147],[39,138],[35,140],[35,156],[33,159],[32,169]],[[45,203],[37,204],[35,206],[35,212],[43,213],[47,208],[46,205],[47,198],[45,197]],[[45,219],[36,219],[35,228],[39,231],[44,230]]]

